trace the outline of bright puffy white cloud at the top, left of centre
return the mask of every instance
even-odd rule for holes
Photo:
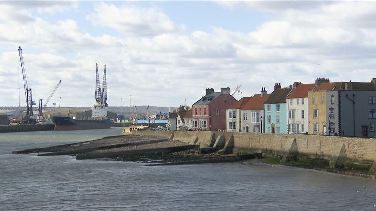
[[[179,32],[178,26],[157,8],[140,8],[131,5],[116,7],[101,2],[94,7],[95,12],[86,16],[94,26],[118,30],[126,35],[156,35]]]

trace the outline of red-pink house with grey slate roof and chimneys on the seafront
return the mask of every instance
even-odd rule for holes
[[[226,108],[237,102],[230,95],[230,88],[220,92],[207,88],[205,96],[192,105],[194,130],[226,130]]]

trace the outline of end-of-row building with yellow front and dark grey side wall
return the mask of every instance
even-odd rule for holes
[[[376,78],[371,82],[317,79],[308,101],[310,134],[376,137]]]

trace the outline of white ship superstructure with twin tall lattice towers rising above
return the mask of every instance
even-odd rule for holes
[[[96,64],[96,84],[95,84],[95,99],[96,104],[92,107],[93,119],[107,119],[107,78],[106,65],[104,65],[102,88],[100,87],[100,79],[98,72],[98,64]]]

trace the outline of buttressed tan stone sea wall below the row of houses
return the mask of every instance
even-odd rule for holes
[[[299,154],[310,158],[330,160],[342,157],[354,161],[376,160],[376,138],[339,137],[296,134],[261,134],[212,131],[133,131],[136,135],[159,135],[202,147],[212,147],[216,138],[225,141],[234,137],[233,152]]]

